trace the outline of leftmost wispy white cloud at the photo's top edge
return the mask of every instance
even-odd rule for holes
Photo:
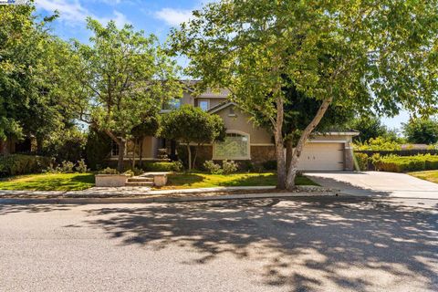
[[[73,23],[83,22],[89,16],[89,11],[78,0],[36,0],[36,7],[48,12],[57,10],[64,20]]]

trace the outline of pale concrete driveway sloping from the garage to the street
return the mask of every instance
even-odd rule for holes
[[[394,172],[308,172],[322,186],[351,195],[438,199],[438,184]]]

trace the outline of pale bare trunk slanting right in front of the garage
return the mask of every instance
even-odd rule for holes
[[[287,190],[292,190],[295,188],[295,177],[297,176],[298,161],[299,157],[301,156],[301,152],[303,151],[304,145],[306,145],[306,141],[308,141],[308,137],[310,137],[312,131],[315,130],[315,128],[318,126],[319,121],[322,119],[322,117],[324,117],[324,114],[328,110],[328,106],[331,104],[332,100],[332,98],[324,99],[318,109],[317,114],[303,131],[301,137],[299,137],[297,147],[295,148],[295,151],[293,151],[292,160],[290,162],[290,165],[288,166],[286,182]]]

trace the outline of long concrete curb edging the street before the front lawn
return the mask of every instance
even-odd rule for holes
[[[183,197],[156,197],[156,198],[0,198],[0,204],[87,204],[87,203],[179,203],[179,202],[199,202],[199,201],[226,201],[226,200],[249,200],[249,199],[269,199],[269,198],[299,198],[299,197],[319,197],[337,196],[334,192],[299,192],[299,193],[241,193],[224,194],[211,196],[183,196]]]

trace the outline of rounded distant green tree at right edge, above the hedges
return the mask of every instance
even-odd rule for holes
[[[438,120],[412,119],[403,124],[403,133],[411,143],[435,144],[438,142]]]

